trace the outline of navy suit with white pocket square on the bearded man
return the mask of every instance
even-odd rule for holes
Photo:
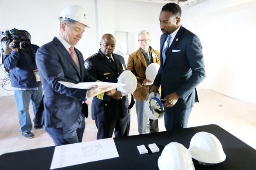
[[[172,108],[166,108],[165,126],[166,130],[171,130],[186,127],[190,111],[198,102],[195,88],[205,78],[205,67],[199,38],[183,26],[166,51],[163,64],[166,38],[165,34],[160,38],[161,65],[153,85],[162,86],[161,98],[174,92],[180,97]]]

